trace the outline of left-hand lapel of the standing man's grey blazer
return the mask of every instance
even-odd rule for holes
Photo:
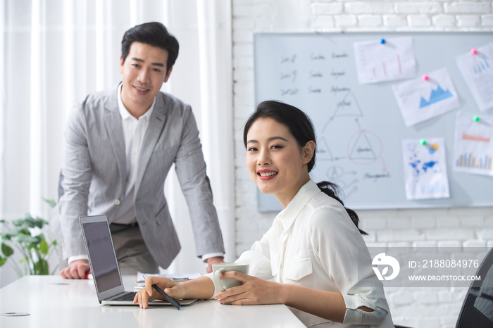
[[[104,112],[103,118],[106,131],[110,137],[111,146],[113,146],[113,152],[115,153],[122,190],[125,193],[125,190],[127,190],[125,137],[123,136],[122,117],[118,111],[117,94],[116,89],[113,89],[111,94],[108,95],[105,103],[106,111]]]

